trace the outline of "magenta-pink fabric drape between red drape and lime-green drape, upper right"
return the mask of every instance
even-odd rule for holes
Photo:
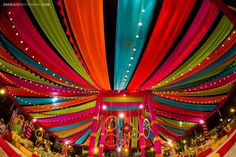
[[[155,74],[142,86],[142,89],[150,88],[173,72],[190,55],[194,48],[205,36],[210,26],[218,15],[218,9],[209,1],[203,1],[202,6],[194,21],[178,46],[157,69]],[[171,66],[170,66],[171,65]]]

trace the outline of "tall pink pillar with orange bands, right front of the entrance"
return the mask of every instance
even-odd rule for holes
[[[156,116],[153,113],[153,100],[152,96],[150,94],[147,95],[146,97],[146,102],[148,105],[149,113],[150,113],[150,119],[151,119],[151,126],[153,129],[153,135],[154,135],[154,145],[155,145],[155,152],[156,156],[162,156],[161,154],[161,141],[160,141],[160,136],[159,132],[157,129],[158,121],[156,120]]]

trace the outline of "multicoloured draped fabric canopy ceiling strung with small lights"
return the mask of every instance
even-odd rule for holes
[[[103,124],[94,117],[121,112],[119,125],[136,128],[153,113],[160,136],[176,140],[234,90],[235,20],[213,1],[27,3],[1,9],[1,82],[62,141],[88,146],[95,132],[97,145]],[[154,143],[152,127],[145,141]]]

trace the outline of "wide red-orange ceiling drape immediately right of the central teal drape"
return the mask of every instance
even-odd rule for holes
[[[182,30],[194,3],[195,1],[185,0],[163,2],[150,41],[128,89],[137,89],[154,72]]]

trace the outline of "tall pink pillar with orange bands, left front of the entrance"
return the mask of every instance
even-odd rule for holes
[[[90,134],[89,157],[94,157],[94,148],[95,148],[95,143],[96,143],[97,129],[99,126],[98,120],[99,120],[99,111],[100,111],[101,103],[102,103],[102,96],[101,96],[101,93],[99,93],[97,97],[96,106],[94,109],[92,131]]]

